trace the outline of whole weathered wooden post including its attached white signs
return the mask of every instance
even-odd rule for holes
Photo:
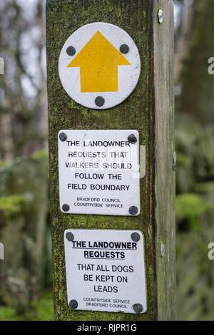
[[[175,319],[173,3],[47,0],[46,29],[55,318]]]

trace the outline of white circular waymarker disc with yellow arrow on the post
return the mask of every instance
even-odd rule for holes
[[[125,53],[120,51],[124,44]],[[71,46],[73,56],[67,53]],[[63,88],[76,103],[106,109],[123,102],[136,87],[141,59],[136,44],[123,29],[103,22],[86,24],[63,45],[58,73]]]

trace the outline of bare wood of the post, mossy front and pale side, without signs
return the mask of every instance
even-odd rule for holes
[[[120,105],[102,111],[85,108],[72,100],[63,90],[58,76],[58,57],[66,39],[92,22],[107,22],[124,29],[135,41],[141,57],[141,76],[135,91]],[[173,2],[47,0],[46,29],[55,318],[79,321],[175,319]],[[63,129],[138,130],[140,144],[146,146],[141,215],[112,217],[61,212],[58,131]],[[69,308],[63,234],[71,228],[143,232],[148,300],[145,314],[72,311]]]

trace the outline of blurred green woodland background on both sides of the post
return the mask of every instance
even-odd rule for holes
[[[214,320],[214,1],[174,4],[178,319]],[[0,320],[53,319],[44,6],[0,4]]]

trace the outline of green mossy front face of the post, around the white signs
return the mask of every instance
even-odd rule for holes
[[[68,36],[85,24],[108,22],[133,38],[141,56],[141,77],[125,102],[108,110],[78,105],[63,90],[58,56]],[[54,267],[54,309],[60,320],[153,320],[156,304],[155,120],[153,91],[153,1],[48,0],[46,6],[49,95],[49,163]],[[61,129],[136,129],[146,145],[146,177],[141,180],[141,215],[111,217],[65,215],[59,208],[58,131]],[[63,232],[68,228],[142,230],[146,241],[146,314],[71,311],[67,303]],[[81,287],[80,287],[81,289]]]

